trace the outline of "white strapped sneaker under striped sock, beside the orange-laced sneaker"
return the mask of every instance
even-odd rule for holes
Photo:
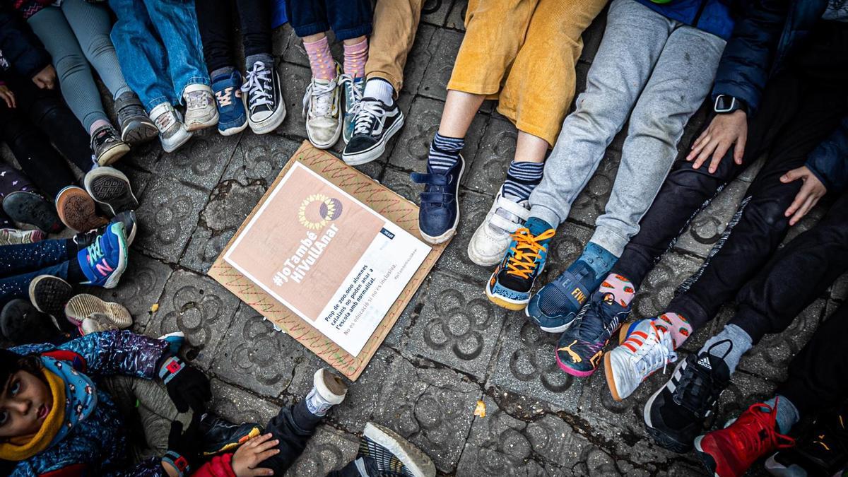
[[[492,208],[468,243],[468,258],[482,267],[497,265],[510,246],[510,235],[522,227],[529,216],[527,200],[515,202],[498,193]]]

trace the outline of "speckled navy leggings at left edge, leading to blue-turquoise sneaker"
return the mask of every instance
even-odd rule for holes
[[[76,260],[76,245],[70,239],[0,246],[0,306],[26,298],[39,275],[68,279],[71,260]]]

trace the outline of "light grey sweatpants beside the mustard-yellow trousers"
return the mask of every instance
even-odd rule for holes
[[[683,127],[710,92],[724,43],[634,0],[611,3],[586,90],[562,124],[530,215],[555,227],[566,220],[629,114],[616,182],[591,239],[622,255],[677,157]]]

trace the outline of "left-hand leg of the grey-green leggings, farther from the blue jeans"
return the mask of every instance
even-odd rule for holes
[[[28,23],[53,57],[62,94],[82,126],[91,134],[98,126],[108,125],[92,70],[62,10],[43,8]]]

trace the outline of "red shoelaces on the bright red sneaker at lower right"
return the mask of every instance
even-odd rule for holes
[[[780,399],[778,397],[778,399]],[[748,451],[748,455],[760,456],[773,449],[785,449],[795,446],[795,439],[788,435],[779,434],[777,429],[778,402],[774,407],[769,407],[765,402],[758,402],[748,407],[739,419],[728,427],[731,439],[742,449]],[[768,412],[762,410],[763,407]],[[763,436],[761,430],[765,429]]]

